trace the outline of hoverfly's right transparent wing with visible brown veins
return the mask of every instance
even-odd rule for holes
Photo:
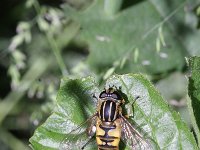
[[[152,150],[151,144],[121,115],[122,141],[128,145],[131,150]]]

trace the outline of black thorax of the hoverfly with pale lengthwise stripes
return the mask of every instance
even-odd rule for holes
[[[117,105],[115,102],[107,100],[102,102],[99,110],[99,118],[101,121],[113,122],[117,118]]]

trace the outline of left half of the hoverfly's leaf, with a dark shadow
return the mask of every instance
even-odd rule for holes
[[[30,139],[33,149],[58,149],[66,134],[95,112],[97,92],[93,78],[63,79],[54,113]]]

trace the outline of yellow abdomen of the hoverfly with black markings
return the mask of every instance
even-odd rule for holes
[[[120,120],[103,123],[100,119],[96,124],[96,141],[98,150],[118,150],[121,137]]]

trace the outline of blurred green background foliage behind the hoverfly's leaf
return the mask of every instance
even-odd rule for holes
[[[199,0],[1,0],[0,150],[29,149],[60,79],[143,73],[190,126],[186,57],[200,54]]]

